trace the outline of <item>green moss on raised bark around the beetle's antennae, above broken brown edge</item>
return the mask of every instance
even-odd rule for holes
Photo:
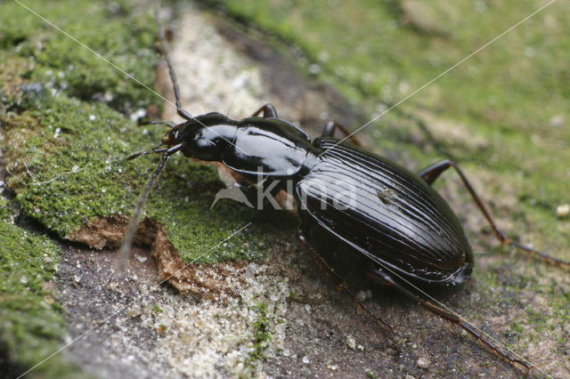
[[[107,7],[73,4],[58,3],[47,9],[40,3],[28,5],[151,84],[159,59],[152,50],[156,30],[151,14],[127,12],[97,28],[100,17],[109,16]],[[3,8],[13,17],[30,17],[17,4],[4,4]],[[89,8],[93,14],[76,15],[68,8],[75,12]],[[65,17],[58,13],[63,9],[68,12]],[[17,191],[23,212],[66,238],[97,217],[132,212],[158,157],[132,162],[124,158],[156,145],[163,131],[159,127],[137,127],[128,115],[141,107],[158,105],[160,99],[127,81],[78,44],[41,25],[18,33],[12,33],[17,28],[14,23],[3,26],[6,36],[28,34],[15,38],[16,45],[7,44],[2,52],[5,63],[0,75],[7,85],[3,90],[6,111],[0,118],[8,126],[5,155],[13,174],[8,183]],[[40,51],[37,41],[44,46]],[[110,95],[100,97],[101,93]],[[187,185],[189,181],[214,190],[222,188],[212,167],[173,157],[145,207],[148,217],[166,225],[168,237],[183,259],[193,260],[247,222],[255,222],[248,233],[232,238],[200,262],[264,256],[266,242],[275,238],[279,222],[273,222],[272,227],[264,225],[262,221],[271,214],[258,215],[225,200],[210,210],[215,192],[193,189]]]

